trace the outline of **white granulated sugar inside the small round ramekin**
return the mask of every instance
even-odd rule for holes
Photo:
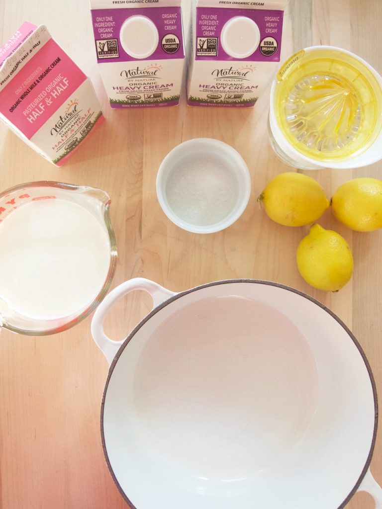
[[[237,181],[223,160],[207,156],[186,159],[169,175],[166,193],[169,206],[180,219],[207,226],[232,211]]]

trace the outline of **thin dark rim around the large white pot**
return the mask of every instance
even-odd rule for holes
[[[105,382],[105,387],[104,387],[104,390],[103,390],[102,402],[101,402],[100,424],[101,424],[102,448],[103,448],[103,454],[105,456],[107,467],[108,467],[108,469],[109,469],[109,471],[110,471],[110,473],[111,473],[111,475],[112,475],[112,477],[114,479],[114,482],[115,482],[119,492],[121,493],[122,497],[128,503],[128,505],[131,507],[131,509],[139,509],[138,507],[135,507],[135,505],[129,500],[129,498],[127,497],[126,493],[123,491],[121,485],[118,482],[118,479],[117,479],[117,477],[116,477],[116,475],[115,475],[115,473],[113,471],[112,464],[111,464],[110,459],[109,459],[108,454],[107,454],[107,449],[106,449],[106,444],[105,444],[105,436],[104,436],[104,431],[103,431],[103,414],[104,414],[106,392],[107,392],[108,384],[110,382],[110,379],[111,379],[113,371],[114,371],[114,367],[116,366],[120,355],[122,354],[123,350],[126,348],[128,343],[130,342],[132,337],[135,335],[135,333],[137,333],[137,331],[148,320],[150,320],[150,318],[153,315],[158,313],[163,307],[167,306],[168,304],[170,304],[174,300],[177,300],[177,299],[183,297],[184,295],[187,295],[187,294],[192,293],[192,292],[196,292],[196,291],[201,290],[203,288],[208,288],[208,287],[216,286],[216,285],[227,285],[227,284],[231,284],[231,283],[255,283],[255,284],[260,284],[260,285],[269,285],[269,286],[274,286],[274,287],[277,287],[277,288],[282,288],[284,290],[288,290],[288,291],[293,292],[293,293],[295,293],[297,295],[301,295],[302,297],[305,297],[306,299],[310,300],[314,304],[317,304],[319,307],[321,307],[321,309],[326,311],[326,313],[331,315],[341,325],[341,327],[347,332],[347,334],[349,335],[349,337],[353,341],[354,345],[356,345],[358,351],[361,354],[361,357],[362,357],[362,359],[363,359],[363,361],[365,363],[367,372],[369,374],[369,378],[370,378],[370,382],[371,382],[371,386],[372,386],[372,390],[373,390],[373,398],[374,398],[374,430],[373,430],[373,437],[372,437],[371,444],[370,444],[369,454],[368,454],[366,463],[365,463],[365,465],[364,465],[364,467],[362,469],[361,475],[359,476],[359,478],[357,480],[357,483],[353,486],[353,488],[351,489],[351,491],[349,492],[349,494],[347,495],[345,500],[337,508],[333,508],[333,509],[343,509],[345,507],[345,505],[349,502],[351,497],[357,492],[359,486],[361,485],[362,480],[363,480],[364,476],[366,475],[366,472],[367,472],[367,470],[368,470],[368,468],[370,466],[371,458],[373,456],[373,451],[374,451],[374,446],[375,446],[376,433],[377,433],[377,425],[378,425],[378,402],[377,402],[377,391],[376,391],[375,381],[374,381],[374,377],[373,377],[373,374],[372,374],[372,371],[371,371],[371,367],[370,367],[369,361],[367,360],[367,357],[366,357],[365,352],[363,351],[361,345],[359,344],[359,342],[357,341],[357,339],[353,335],[353,333],[350,331],[350,329],[328,307],[326,307],[324,304],[322,304],[321,302],[319,302],[315,298],[311,297],[310,295],[308,295],[308,294],[306,294],[304,292],[301,292],[299,290],[296,290],[295,288],[288,287],[286,285],[282,285],[281,283],[277,283],[277,282],[274,282],[274,281],[268,281],[268,280],[262,280],[262,279],[223,279],[223,280],[220,280],[220,281],[213,281],[213,282],[207,283],[205,285],[200,285],[200,286],[191,288],[189,290],[185,290],[183,292],[179,292],[179,293],[171,296],[170,298],[166,299],[165,301],[161,302],[156,307],[154,307],[150,311],[150,313],[148,315],[146,315],[139,322],[139,324],[132,329],[132,331],[126,337],[125,341],[123,342],[123,344],[119,348],[117,354],[115,355],[115,357],[113,359],[113,362],[110,365],[110,369],[108,371],[107,379],[106,379],[106,382]]]

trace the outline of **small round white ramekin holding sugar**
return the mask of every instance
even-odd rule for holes
[[[175,200],[174,186],[182,193]],[[230,145],[195,138],[181,143],[163,159],[156,193],[163,212],[178,227],[193,233],[214,233],[229,227],[244,212],[251,177],[247,164]],[[222,203],[227,200],[226,205]]]

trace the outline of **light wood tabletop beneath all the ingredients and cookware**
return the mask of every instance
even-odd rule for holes
[[[184,4],[187,20],[189,6]],[[282,60],[302,47],[328,44],[357,53],[382,73],[380,19],[378,0],[291,0],[285,12]],[[381,397],[382,231],[351,232],[326,211],[320,223],[339,232],[351,246],[353,277],[338,293],[325,293],[309,287],[299,276],[295,250],[307,228],[282,227],[256,203],[265,183],[290,169],[268,144],[269,89],[254,108],[188,107],[183,95],[179,107],[112,110],[96,65],[88,3],[3,0],[0,42],[24,20],[46,24],[90,76],[106,122],[60,169],[0,126],[0,190],[23,182],[55,180],[107,191],[119,252],[113,286],[143,276],[181,291],[213,280],[256,278],[278,281],[315,297],[358,338]],[[252,194],[234,225],[203,236],[179,229],[162,213],[155,178],[161,160],[173,147],[204,136],[223,140],[242,155],[250,170]],[[382,161],[353,171],[304,173],[317,179],[330,196],[352,177],[381,178]],[[129,296],[107,317],[106,332],[116,339],[125,337],[150,304],[140,292]],[[102,453],[99,408],[108,366],[92,340],[90,322],[88,317],[66,332],[37,338],[1,333],[2,509],[126,507]],[[371,471],[382,484],[380,430]],[[373,501],[358,493],[348,507],[371,509]]]

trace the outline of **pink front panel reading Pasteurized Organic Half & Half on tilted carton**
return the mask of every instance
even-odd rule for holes
[[[85,74],[50,39],[0,93],[0,111],[31,139],[85,80]],[[65,121],[53,117],[52,129],[54,122],[57,127]]]

